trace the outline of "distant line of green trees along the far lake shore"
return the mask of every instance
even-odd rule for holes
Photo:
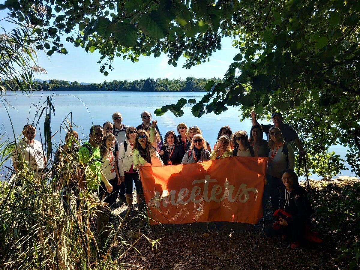
[[[134,81],[104,81],[102,84],[79,84],[77,81],[69,83],[62,80],[49,80],[49,82],[34,82],[35,90],[44,91],[146,91],[146,92],[202,92],[205,91],[204,85],[210,81],[219,81],[211,78],[186,77],[185,80],[168,78],[161,79],[147,78],[145,80]],[[9,85],[14,82],[8,81]],[[10,87],[9,89],[10,90]]]

